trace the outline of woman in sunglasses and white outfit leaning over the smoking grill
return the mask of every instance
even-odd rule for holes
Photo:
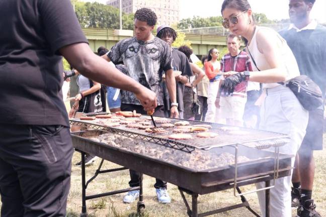
[[[277,83],[300,74],[292,51],[277,32],[254,24],[253,11],[247,0],[224,0],[221,13],[223,26],[247,39],[247,53],[254,68],[253,72],[236,73],[225,78],[221,88],[232,92],[234,86],[243,80],[263,83],[265,98],[262,99],[260,111],[260,129],[288,134],[291,139],[280,147],[280,152],[295,156],[305,135],[308,112],[288,87]],[[271,216],[291,216],[290,183],[291,176],[272,183],[275,187],[271,188]],[[259,183],[257,188],[264,185]],[[265,192],[259,191],[258,198],[265,216]]]

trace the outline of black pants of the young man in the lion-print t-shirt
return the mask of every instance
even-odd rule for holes
[[[121,111],[134,111],[136,110],[137,113],[140,113],[142,115],[146,115],[146,111],[144,111],[143,106],[141,105],[134,105],[134,104],[125,104],[121,103]],[[155,108],[155,112],[153,116],[156,117],[165,117],[164,113],[164,106],[159,105]],[[129,170],[130,173],[130,181],[129,181],[129,186],[130,187],[136,187],[139,186],[139,172],[134,171],[134,170]],[[155,188],[167,188],[167,182],[162,181],[160,179],[156,178],[156,183],[154,184]]]

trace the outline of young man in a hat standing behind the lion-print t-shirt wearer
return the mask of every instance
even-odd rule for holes
[[[193,72],[191,70],[190,63],[186,57],[186,55],[177,49],[172,48],[173,42],[177,39],[177,32],[169,26],[162,25],[157,28],[156,36],[163,41],[167,42],[172,51],[172,61],[171,66],[173,70],[181,72],[181,75],[176,75],[175,79],[177,82],[177,103],[178,110],[180,114],[180,118],[184,118],[184,91],[185,84],[189,82],[189,77],[193,76]],[[162,82],[162,88],[166,90],[166,83]],[[168,91],[164,91],[164,100],[165,100],[165,110],[166,112],[170,112],[170,96]]]

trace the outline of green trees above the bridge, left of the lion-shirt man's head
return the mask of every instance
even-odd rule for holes
[[[120,29],[119,9],[112,6],[94,3],[84,3],[71,0],[75,14],[82,28]],[[133,14],[122,13],[123,29],[133,30]]]

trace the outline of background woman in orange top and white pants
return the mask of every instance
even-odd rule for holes
[[[216,106],[215,98],[218,92],[220,74],[220,63],[217,60],[219,52],[216,48],[212,48],[208,51],[208,59],[205,62],[205,74],[209,78],[209,85],[207,90],[207,114],[205,117],[206,122],[216,122]]]

